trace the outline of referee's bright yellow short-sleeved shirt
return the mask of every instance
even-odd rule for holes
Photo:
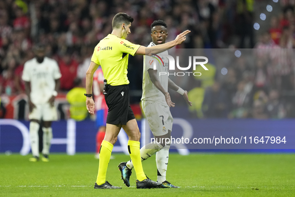
[[[127,77],[128,54],[134,56],[138,44],[108,34],[95,46],[91,61],[101,65],[103,76],[110,85],[129,84]]]

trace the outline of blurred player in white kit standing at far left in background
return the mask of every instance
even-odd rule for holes
[[[48,154],[52,138],[51,121],[57,120],[54,99],[59,89],[61,77],[59,67],[54,59],[45,57],[45,47],[34,46],[35,57],[24,63],[22,80],[25,81],[25,92],[29,103],[29,134],[33,157],[30,161],[39,160],[39,123],[43,120],[42,161],[49,161]]]

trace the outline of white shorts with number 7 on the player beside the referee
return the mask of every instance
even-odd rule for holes
[[[168,130],[172,130],[173,117],[168,105],[146,100],[142,101],[142,108],[155,136],[167,134]]]

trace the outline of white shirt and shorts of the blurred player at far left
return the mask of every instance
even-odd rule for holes
[[[30,82],[30,99],[36,105],[29,119],[57,120],[56,108],[48,102],[55,88],[55,79],[61,77],[57,62],[44,57],[42,63],[32,58],[24,63],[22,80]]]

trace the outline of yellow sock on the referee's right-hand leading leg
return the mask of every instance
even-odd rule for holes
[[[141,163],[141,157],[140,157],[140,142],[128,140],[128,151],[136,172],[137,179],[139,181],[146,179],[146,175],[144,174],[144,171],[142,169],[142,163]],[[99,162],[99,165],[100,165],[100,162]]]

